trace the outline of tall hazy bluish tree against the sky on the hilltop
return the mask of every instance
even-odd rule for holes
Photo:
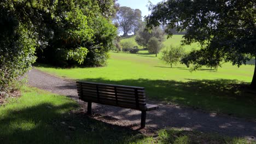
[[[141,10],[139,9],[120,7],[114,21],[118,23],[120,31],[123,31],[123,37],[126,37],[141,26],[141,17]]]

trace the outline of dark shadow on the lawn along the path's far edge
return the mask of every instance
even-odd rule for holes
[[[256,117],[255,93],[249,93],[249,83],[237,80],[106,80],[83,81],[145,87],[147,98],[191,106],[236,116]]]

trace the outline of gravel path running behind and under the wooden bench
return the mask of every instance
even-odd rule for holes
[[[75,82],[61,79],[42,71],[32,69],[28,74],[28,84],[49,92],[67,95],[78,101],[86,111],[86,103],[80,101],[77,96]],[[188,130],[208,131],[229,136],[256,137],[256,122],[243,118],[219,116],[214,113],[206,113],[179,106],[166,105],[160,102],[148,101],[149,104],[160,106],[159,110],[147,112],[146,126],[153,129],[176,127]],[[131,109],[123,109],[114,106],[92,104],[92,112],[101,121],[118,125],[139,125],[141,112]],[[112,120],[108,121],[109,118]],[[114,121],[113,121],[114,119]]]

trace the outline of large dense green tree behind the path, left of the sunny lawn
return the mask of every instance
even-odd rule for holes
[[[39,62],[59,66],[82,64],[90,67],[107,64],[107,52],[113,47],[113,39],[117,35],[116,28],[110,19],[101,14],[99,5],[91,1],[84,5],[82,2],[55,3],[56,9],[53,10],[51,17],[48,17],[53,23],[48,23],[46,27],[54,35],[48,40],[48,46],[38,52]],[[80,4],[83,6],[78,7]],[[67,11],[62,11],[66,7]],[[90,12],[92,9],[94,13]],[[58,13],[55,14],[56,12]],[[82,51],[80,47],[88,51]],[[70,55],[75,51],[83,53]],[[62,52],[62,55],[53,55],[55,52]]]

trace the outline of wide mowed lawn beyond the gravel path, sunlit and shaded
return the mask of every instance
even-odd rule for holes
[[[145,87],[151,100],[256,118],[255,93],[243,89],[252,80],[253,65],[237,68],[226,63],[218,71],[202,68],[190,72],[185,65],[170,68],[154,55],[141,51],[140,54],[110,52],[107,67],[36,68],[74,80]]]

